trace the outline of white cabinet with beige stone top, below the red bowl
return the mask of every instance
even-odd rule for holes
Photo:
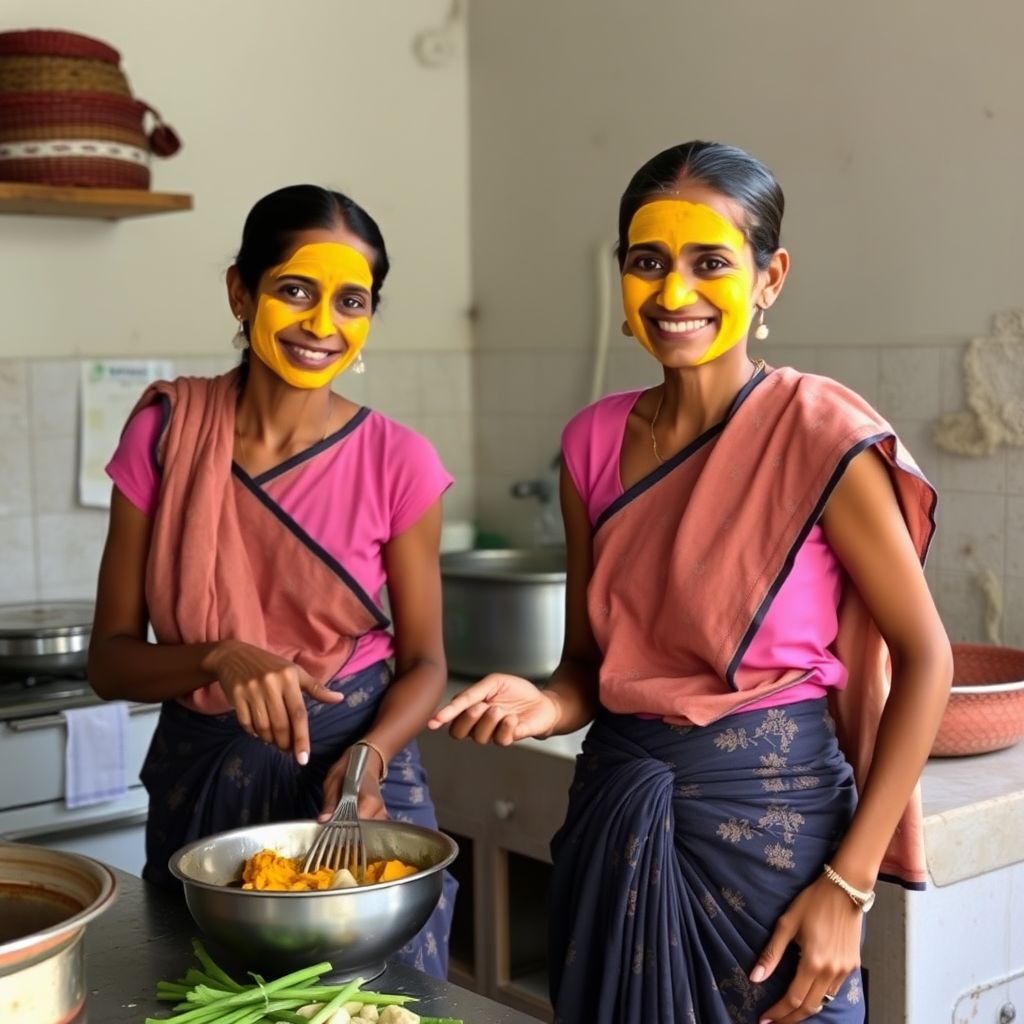
[[[933,758],[922,807],[928,889],[868,915],[870,1024],[1024,1020],[1024,743]]]

